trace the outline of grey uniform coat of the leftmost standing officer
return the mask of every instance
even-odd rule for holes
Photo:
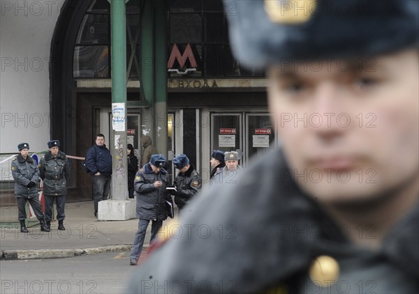
[[[22,155],[16,155],[12,160],[11,170],[15,180],[15,195],[24,198],[38,197],[38,185],[31,188],[27,187],[29,182],[38,184],[39,169],[35,160],[29,155],[26,160]]]

